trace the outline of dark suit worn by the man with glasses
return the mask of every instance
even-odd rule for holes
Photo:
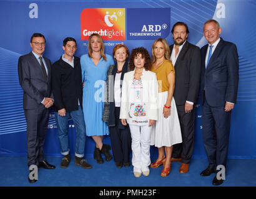
[[[27,121],[27,165],[39,165],[44,161],[44,140],[49,120],[49,109],[42,100],[52,97],[51,61],[43,57],[47,65],[47,80],[40,63],[32,52],[19,57],[19,83],[23,89],[23,108]]]

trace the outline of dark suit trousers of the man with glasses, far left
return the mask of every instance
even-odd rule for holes
[[[39,165],[44,159],[49,109],[41,104],[39,109],[24,109],[27,121],[27,165]]]

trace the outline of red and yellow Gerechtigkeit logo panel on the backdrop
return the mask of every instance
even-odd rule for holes
[[[104,40],[126,39],[125,8],[86,8],[81,12],[81,40],[98,33]]]

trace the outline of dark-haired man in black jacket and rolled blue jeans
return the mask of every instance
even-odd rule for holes
[[[75,57],[76,40],[67,37],[63,41],[64,55],[52,65],[52,92],[61,154],[64,155],[61,168],[67,168],[71,162],[69,136],[67,134],[68,118],[71,116],[76,127],[75,164],[84,169],[91,169],[84,160],[86,144],[86,124],[82,112],[82,74],[80,58]]]

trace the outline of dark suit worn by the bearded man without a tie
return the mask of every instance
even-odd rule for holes
[[[170,45],[170,53],[174,45]],[[189,164],[194,150],[195,103],[200,87],[200,49],[185,42],[174,65],[175,88],[174,99],[179,114],[182,143],[175,144],[172,157],[181,158],[182,163]],[[185,103],[194,103],[190,113],[185,113]]]

